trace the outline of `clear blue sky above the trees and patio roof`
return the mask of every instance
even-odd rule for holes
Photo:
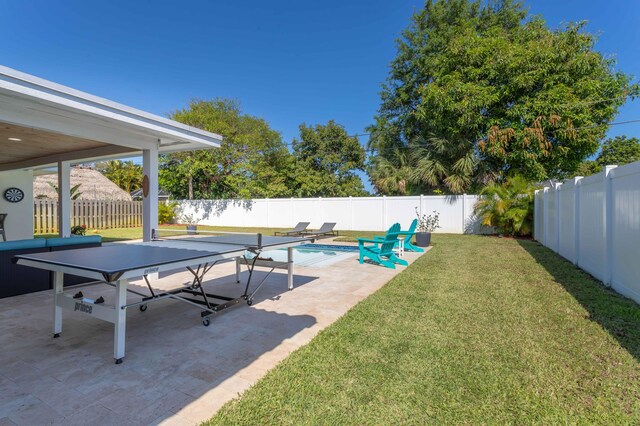
[[[363,133],[394,40],[422,1],[0,0],[3,65],[156,114],[234,98],[285,142],[300,123]],[[548,24],[588,20],[597,49],[640,79],[637,0],[530,0]],[[640,119],[640,101],[616,121]],[[640,123],[610,135],[640,136]],[[366,137],[361,138],[366,142]]]

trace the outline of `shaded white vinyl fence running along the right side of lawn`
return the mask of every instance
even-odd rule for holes
[[[640,303],[640,161],[536,191],[534,237]]]

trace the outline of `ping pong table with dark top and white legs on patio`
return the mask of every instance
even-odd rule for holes
[[[189,232],[189,231],[187,231]],[[286,265],[288,269],[288,287],[293,288],[293,255],[292,248],[313,241],[304,237],[273,237],[262,234],[239,233],[207,233],[185,234],[185,231],[171,232],[154,230],[153,239],[149,242],[122,243],[102,247],[65,250],[58,252],[34,253],[15,256],[14,262],[54,273],[53,279],[53,336],[59,337],[62,332],[62,309],[81,312],[103,321],[114,324],[113,357],[116,364],[122,363],[125,356],[126,311],[138,307],[147,309],[149,303],[174,299],[195,306],[201,310],[202,322],[210,324],[210,316],[246,302],[253,303],[268,275],[276,267]],[[288,249],[287,262],[273,264],[262,281],[250,292],[251,278],[260,254],[264,250]],[[255,256],[247,259],[246,253]],[[205,275],[220,262],[244,258],[249,271],[244,292],[235,297],[207,293],[203,286]],[[258,263],[256,263],[258,262]],[[187,286],[158,292],[153,289],[149,276],[156,273],[186,269],[193,280]],[[108,284],[115,288],[113,305],[105,303],[102,297],[93,300],[76,292],[64,292],[64,274],[73,274],[94,279],[92,284]],[[129,280],[142,277],[149,289],[145,294],[129,288]],[[239,278],[238,278],[239,282]],[[85,284],[87,285],[87,284]],[[72,294],[76,292],[75,294]],[[133,293],[141,299],[127,303],[127,293]]]

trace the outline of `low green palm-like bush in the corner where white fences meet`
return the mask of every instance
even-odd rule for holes
[[[475,205],[482,224],[495,227],[506,235],[527,236],[533,230],[535,187],[525,178],[515,176],[502,184],[493,183],[480,192]]]

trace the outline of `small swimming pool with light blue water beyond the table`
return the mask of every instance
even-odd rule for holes
[[[358,247],[334,244],[304,244],[293,248],[293,264],[322,268],[341,260],[355,257]],[[251,259],[253,255],[248,254]],[[261,258],[271,258],[277,262],[287,261],[287,249],[268,250],[260,254]]]

